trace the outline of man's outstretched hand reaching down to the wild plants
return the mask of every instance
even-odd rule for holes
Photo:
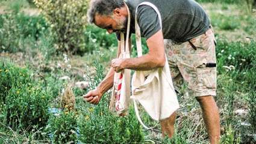
[[[96,88],[92,91],[89,91],[86,95],[83,95],[83,97],[84,97],[84,100],[86,100],[91,104],[98,104],[99,101],[101,100],[102,95],[103,94],[99,91],[99,89]]]

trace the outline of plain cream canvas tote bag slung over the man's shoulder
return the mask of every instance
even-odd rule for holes
[[[154,4],[150,2],[142,2],[140,5],[149,5],[154,8],[158,14],[161,23],[161,15]],[[137,8],[140,6],[138,5]],[[142,56],[142,43],[140,37],[140,27],[137,23],[137,8],[136,8],[136,45],[138,57]],[[172,115],[175,110],[179,108],[178,100],[175,94],[175,89],[172,84],[172,77],[170,75],[169,64],[166,62],[164,67],[155,68],[149,71],[135,71],[132,82],[132,96],[136,115],[143,127],[137,108],[137,101],[145,108],[146,112],[152,119],[159,121],[166,119]],[[149,129],[149,128],[148,128]]]

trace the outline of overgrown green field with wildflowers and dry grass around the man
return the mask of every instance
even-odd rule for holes
[[[209,143],[201,108],[186,84],[178,94],[172,139],[161,139],[160,124],[140,109],[143,122],[154,127],[145,130],[133,104],[128,116],[111,113],[111,91],[96,106],[83,101],[116,57],[116,37],[86,23],[86,0],[61,6],[40,2],[0,0],[0,143]],[[198,2],[217,40],[221,143],[256,143],[254,6],[239,0]]]

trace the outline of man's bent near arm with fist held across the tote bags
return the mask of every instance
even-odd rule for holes
[[[131,70],[152,70],[157,67],[164,67],[165,53],[162,31],[159,30],[146,41],[149,52],[139,58],[113,59],[111,67],[115,71],[121,71],[123,68]]]

